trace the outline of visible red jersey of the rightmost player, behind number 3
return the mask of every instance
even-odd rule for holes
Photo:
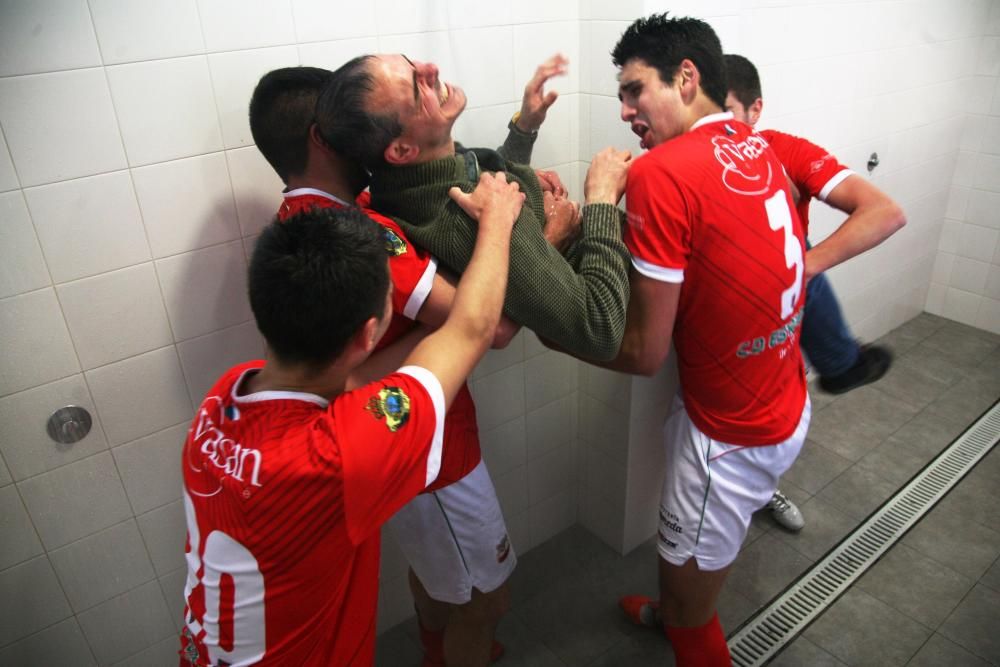
[[[801,137],[777,130],[760,130],[758,134],[774,149],[788,177],[799,189],[800,199],[795,209],[802,222],[802,231],[808,236],[809,202],[813,197],[826,201],[833,189],[854,172],[840,164],[826,149]]]

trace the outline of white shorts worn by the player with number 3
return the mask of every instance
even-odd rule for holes
[[[811,414],[807,396],[792,437],[777,445],[745,447],[698,430],[678,395],[663,429],[667,473],[660,498],[660,556],[678,566],[693,556],[700,570],[721,570],[736,560],[750,518],[771,499],[778,478],[799,455]]]

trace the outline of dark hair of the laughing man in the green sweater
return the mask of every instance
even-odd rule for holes
[[[333,72],[316,105],[320,136],[334,150],[368,169],[385,164],[385,149],[403,133],[399,116],[366,108],[375,79],[369,71],[375,56],[358,56]]]

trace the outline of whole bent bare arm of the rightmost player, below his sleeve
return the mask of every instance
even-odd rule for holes
[[[848,216],[833,234],[806,253],[806,280],[874,248],[906,224],[903,209],[857,174],[837,185],[826,203]]]

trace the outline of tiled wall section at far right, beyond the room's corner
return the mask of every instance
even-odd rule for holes
[[[927,310],[1000,333],[1000,3],[979,44]]]

